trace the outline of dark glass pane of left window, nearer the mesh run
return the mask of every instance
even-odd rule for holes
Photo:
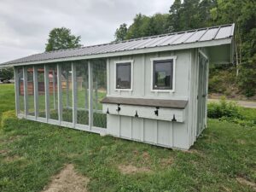
[[[131,89],[131,63],[116,64],[116,89]]]

